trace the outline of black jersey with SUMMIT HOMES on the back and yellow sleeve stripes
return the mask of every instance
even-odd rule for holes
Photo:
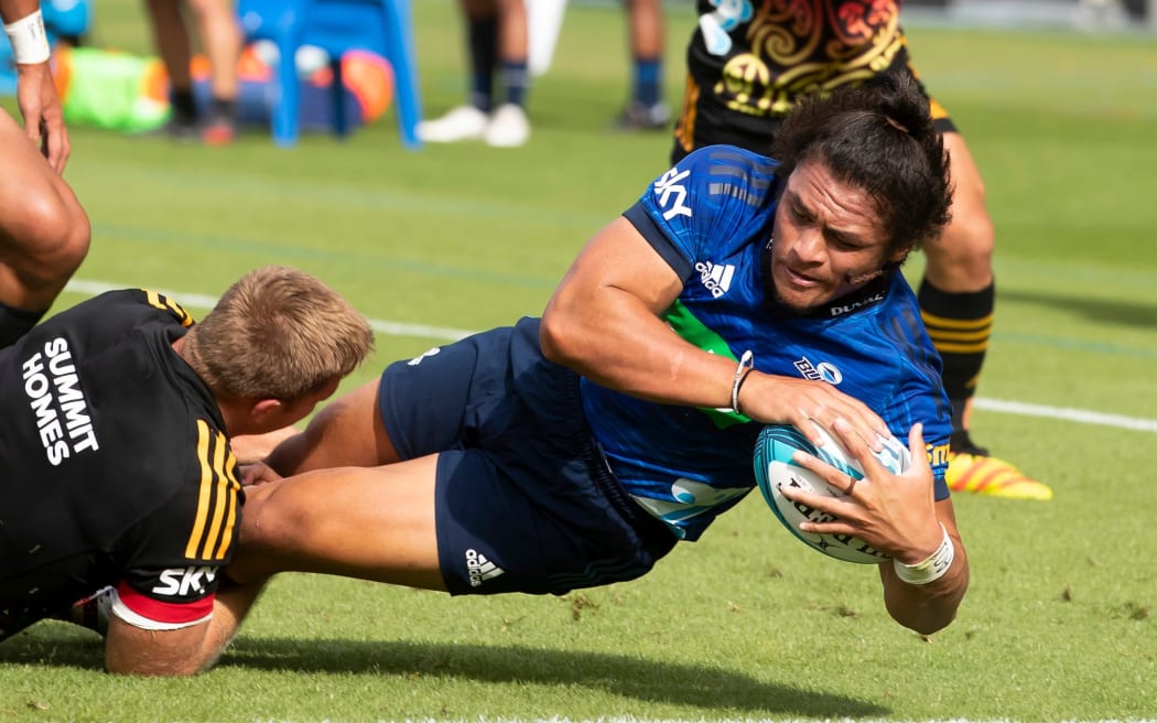
[[[0,608],[117,585],[150,620],[212,610],[243,493],[213,394],[172,348],[192,323],[110,292],[0,351]]]

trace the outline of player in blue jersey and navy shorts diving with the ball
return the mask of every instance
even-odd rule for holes
[[[968,583],[951,410],[898,268],[949,219],[948,156],[904,75],[801,104],[776,141],[778,161],[680,161],[595,235],[541,319],[393,363],[319,412],[251,470],[230,576],[452,595],[632,580],[751,492],[764,423],[815,421],[862,460],[878,435],[908,440],[902,475],[852,485],[813,463],[850,502],[791,496],[839,517],[815,531],[893,558],[898,622],[946,626]]]

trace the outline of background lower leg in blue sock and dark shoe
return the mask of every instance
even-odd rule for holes
[[[625,0],[631,47],[631,99],[614,125],[620,131],[653,131],[671,123],[663,99],[663,0]]]

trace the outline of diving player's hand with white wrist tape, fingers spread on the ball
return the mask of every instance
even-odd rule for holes
[[[908,435],[912,466],[902,474],[890,473],[846,423],[838,422],[833,430],[864,470],[864,479],[852,485],[835,467],[809,455],[798,456],[802,466],[833,487],[850,488],[847,497],[838,500],[784,487],[788,499],[834,516],[832,522],[803,523],[801,529],[850,534],[889,554],[892,561],[879,566],[889,614],[924,635],[944,628],[956,618],[968,589],[968,558],[952,500],[934,500],[922,426],[915,425]]]

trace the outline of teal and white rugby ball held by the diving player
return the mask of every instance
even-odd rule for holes
[[[863,479],[864,475],[860,463],[849,456],[826,429],[818,425],[816,429],[824,438],[824,444],[818,448],[790,425],[768,425],[760,430],[756,441],[754,467],[756,482],[764,493],[764,500],[783,526],[812,549],[845,562],[875,565],[889,560],[887,555],[858,538],[847,534],[817,534],[799,529],[802,522],[830,522],[833,517],[803,502],[788,500],[780,492],[781,488],[795,487],[837,499],[845,495],[842,489],[832,487],[820,475],[791,462],[791,455],[796,450],[818,457],[855,479]],[[876,453],[876,458],[890,472],[897,474],[907,471],[912,464],[908,448],[893,436],[884,441],[884,448]]]

